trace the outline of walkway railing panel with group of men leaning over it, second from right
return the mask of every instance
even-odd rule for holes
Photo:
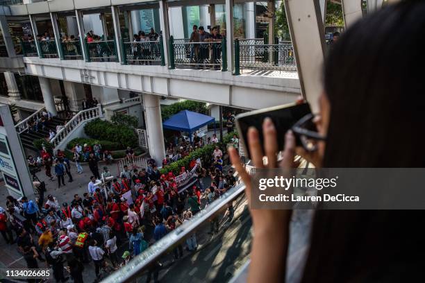
[[[226,40],[219,42],[189,42],[174,40],[170,37],[170,69],[225,69],[222,62],[226,61]],[[223,67],[223,68],[222,68]]]

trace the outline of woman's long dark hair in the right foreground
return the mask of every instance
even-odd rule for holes
[[[425,167],[425,1],[369,15],[325,63],[324,167]],[[303,282],[424,281],[422,211],[318,211]],[[419,279],[422,278],[422,279]]]

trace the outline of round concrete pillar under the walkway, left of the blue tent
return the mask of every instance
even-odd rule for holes
[[[163,121],[161,120],[160,96],[143,94],[144,121],[148,137],[149,154],[158,166],[165,157]]]

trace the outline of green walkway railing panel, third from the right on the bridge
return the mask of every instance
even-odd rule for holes
[[[161,65],[160,41],[123,42],[123,53],[127,64],[132,65]]]

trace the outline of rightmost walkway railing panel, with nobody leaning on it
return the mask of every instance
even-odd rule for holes
[[[240,44],[235,40],[235,74],[240,69],[296,71],[291,42],[277,44]]]

